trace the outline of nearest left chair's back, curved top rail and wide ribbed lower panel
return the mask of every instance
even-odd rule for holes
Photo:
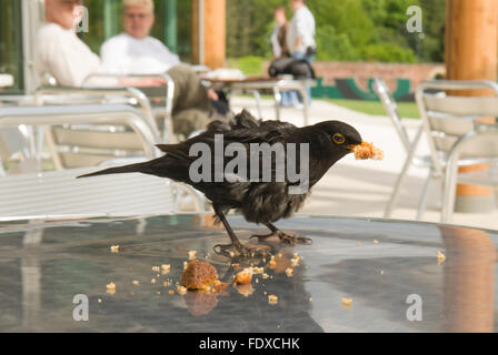
[[[142,143],[142,158],[159,155],[159,138],[149,122],[126,105],[0,108],[0,130],[46,125],[128,124]],[[172,183],[142,174],[77,180],[96,168],[0,176],[0,217],[169,214]]]

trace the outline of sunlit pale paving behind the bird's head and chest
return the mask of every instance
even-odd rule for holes
[[[232,98],[231,104],[236,112],[245,108],[257,115],[255,100],[251,98],[236,97]],[[265,119],[276,118],[272,101],[262,101],[262,113]],[[293,124],[303,124],[302,111],[282,109],[281,116],[282,120]],[[323,120],[341,120],[353,125],[366,141],[375,143],[385,151],[386,159],[381,162],[356,161],[352,156],[342,159],[313,187],[312,195],[301,212],[320,215],[382,217],[392,185],[406,158],[390,120],[387,116],[372,116],[316,100],[310,108],[310,124]],[[415,134],[418,123],[417,120],[406,120],[409,134]],[[421,142],[418,152],[420,154],[428,153],[426,141]],[[426,175],[426,169],[410,169],[392,219],[415,220]],[[428,207],[424,221],[439,222],[440,196],[441,185],[436,181],[429,190]],[[498,230],[498,210],[481,214],[456,213],[454,223]]]

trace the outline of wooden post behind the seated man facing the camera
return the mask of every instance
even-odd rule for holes
[[[195,63],[206,64],[211,69],[225,67],[226,9],[226,0],[192,0],[192,61]],[[202,27],[202,36],[199,36],[199,26]]]

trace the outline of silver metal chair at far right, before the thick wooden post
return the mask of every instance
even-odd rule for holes
[[[482,89],[492,92],[494,97],[457,97],[448,93]],[[431,93],[431,90],[447,92]],[[419,85],[416,97],[428,136],[435,178],[444,178],[441,222],[450,222],[457,181],[492,185],[497,179],[497,125],[479,120],[498,116],[498,84],[490,81],[428,81]],[[476,164],[489,164],[490,172],[457,176],[459,166]]]

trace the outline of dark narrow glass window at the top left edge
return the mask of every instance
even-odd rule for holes
[[[0,73],[14,77],[14,85],[2,93],[23,89],[21,1],[0,0]]]

